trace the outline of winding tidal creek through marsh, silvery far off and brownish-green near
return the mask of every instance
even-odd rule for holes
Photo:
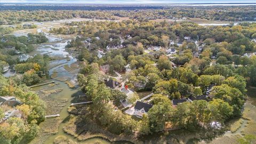
[[[41,26],[43,26],[43,23],[41,23]],[[37,29],[37,31],[42,32],[41,29]],[[24,34],[20,34],[20,35],[24,35]],[[26,33],[25,33],[25,35],[26,35]],[[52,75],[53,73],[58,73],[58,77],[61,77],[62,79],[73,80],[74,82],[76,82],[77,73],[70,73],[65,68],[63,68],[64,65],[70,66],[72,63],[77,61],[75,57],[73,57],[70,53],[68,53],[65,50],[65,46],[67,45],[67,42],[70,39],[62,39],[61,37],[59,37],[57,35],[50,35],[48,33],[45,33],[45,35],[49,39],[50,43],[38,45],[38,48],[35,53],[40,53],[40,54],[47,53],[51,57],[56,57],[56,56],[63,57],[64,59],[53,60],[50,62],[50,66],[55,66],[55,67],[52,67],[49,69],[49,74]],[[66,57],[69,57],[70,60],[65,59]],[[69,135],[63,131],[63,126],[65,126],[66,122],[68,122],[68,121],[65,121],[65,119],[68,119],[68,117],[70,115],[68,113],[67,109],[71,103],[76,102],[76,101],[74,101],[74,97],[76,97],[79,93],[81,94],[81,91],[79,90],[78,86],[76,86],[75,89],[70,89],[68,87],[68,85],[63,81],[58,81],[58,80],[52,79],[52,78],[50,78],[49,80],[54,81],[56,83],[56,85],[51,87],[51,89],[62,89],[62,91],[59,93],[50,94],[48,97],[52,97],[55,100],[66,99],[67,102],[65,103],[65,106],[62,107],[62,109],[59,113],[60,117],[58,117],[58,118],[61,119],[61,123],[58,126],[58,132],[53,135],[50,135],[46,140],[44,140],[43,143],[45,143],[45,144],[53,143],[54,139],[59,136],[65,136],[68,140],[71,140],[71,141],[74,141],[77,143],[86,143],[87,144],[87,143],[94,143],[95,141],[103,143],[103,144],[111,143],[102,138],[92,138],[92,139],[88,139],[85,141],[78,141],[75,137],[73,137],[72,135]],[[33,90],[36,92],[41,91],[41,90],[49,90],[49,85],[34,87]],[[51,107],[51,106],[48,105],[47,107]],[[52,114],[52,115],[55,115],[55,114]],[[46,118],[45,121],[42,122],[40,125],[45,125],[45,124],[47,125],[48,123],[50,124],[50,123],[52,123],[51,120],[52,120],[51,118]],[[41,129],[44,129],[44,127],[41,127]],[[37,139],[40,139],[40,138],[37,137],[30,143],[36,143]],[[126,143],[126,142],[115,142],[115,143]]]

